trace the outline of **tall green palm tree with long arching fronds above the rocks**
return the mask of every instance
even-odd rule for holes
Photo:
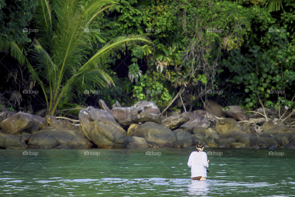
[[[114,85],[112,78],[101,69],[103,63],[115,51],[136,43],[148,43],[145,35],[122,36],[105,43],[98,33],[95,18],[103,11],[116,5],[111,0],[38,0],[33,15],[38,30],[33,41],[34,59],[32,66],[24,51],[13,47],[16,43],[0,43],[0,50],[8,51],[20,63],[25,64],[32,77],[41,86],[45,95],[47,111],[53,115],[75,95],[94,86]],[[90,28],[90,29],[89,29]],[[97,28],[97,26],[96,26]],[[94,51],[94,42],[105,43]]]

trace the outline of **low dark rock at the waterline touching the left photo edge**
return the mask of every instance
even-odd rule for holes
[[[0,147],[5,149],[26,149],[28,145],[26,143],[16,139],[13,135],[6,135],[0,132]]]

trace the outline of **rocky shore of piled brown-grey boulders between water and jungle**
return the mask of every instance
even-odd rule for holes
[[[116,102],[111,110],[103,100],[99,105],[82,109],[79,121],[2,112],[0,148],[183,148],[201,141],[205,147],[295,149],[295,129],[277,118],[266,121],[261,109],[249,115],[241,107],[225,110],[207,101],[204,110],[163,116],[151,101],[132,107]]]

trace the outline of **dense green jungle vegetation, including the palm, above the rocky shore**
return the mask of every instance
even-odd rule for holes
[[[293,109],[294,0],[7,2],[0,105],[10,110],[74,113],[99,99]]]

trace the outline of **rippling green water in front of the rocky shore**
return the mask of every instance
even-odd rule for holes
[[[0,196],[295,196],[294,150],[206,149],[207,181],[189,178],[193,149],[26,151],[0,150]]]

